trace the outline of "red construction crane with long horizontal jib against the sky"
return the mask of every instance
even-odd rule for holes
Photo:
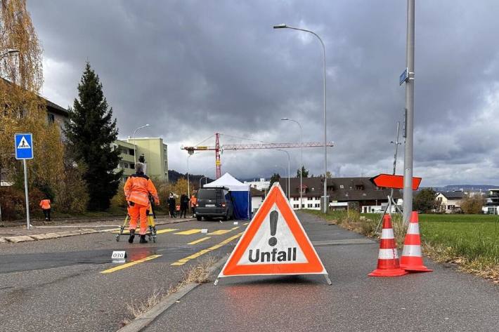
[[[328,147],[332,147],[332,142],[327,142]],[[257,144],[226,144],[220,145],[220,134],[215,133],[215,145],[197,145],[191,147],[181,147],[181,150],[187,150],[189,154],[195,151],[214,151],[215,152],[215,166],[216,178],[221,177],[221,159],[220,150],[254,150],[254,149],[286,149],[290,147],[323,147],[324,144],[320,142],[303,143],[257,143]]]

